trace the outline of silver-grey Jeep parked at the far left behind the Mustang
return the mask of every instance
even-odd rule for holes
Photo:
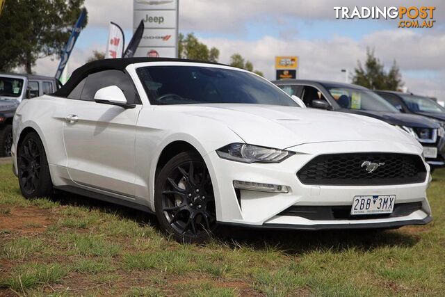
[[[15,109],[26,97],[54,93],[54,77],[29,74],[0,74],[0,156],[10,156]]]

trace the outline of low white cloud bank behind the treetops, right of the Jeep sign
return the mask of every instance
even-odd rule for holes
[[[233,53],[240,53],[255,69],[264,72],[267,79],[275,79],[274,56],[295,54],[300,58],[300,78],[344,81],[340,70],[353,72],[357,61],[366,58],[366,48],[371,47],[386,67],[397,61],[410,91],[444,98],[445,33],[423,35],[394,30],[371,33],[361,40],[341,36],[331,40],[283,40],[265,36],[255,41],[224,38],[203,41],[220,49],[220,62],[229,63]]]

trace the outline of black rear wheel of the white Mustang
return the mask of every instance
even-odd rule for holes
[[[19,186],[24,198],[49,197],[53,193],[47,155],[38,134],[26,134],[19,145],[17,168]]]

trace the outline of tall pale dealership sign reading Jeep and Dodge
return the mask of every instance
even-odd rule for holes
[[[136,57],[177,58],[179,0],[133,0],[133,31],[144,24]]]

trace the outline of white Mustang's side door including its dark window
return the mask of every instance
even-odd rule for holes
[[[134,109],[96,103],[97,90],[118,86]],[[80,96],[79,96],[80,94]],[[68,97],[63,137],[67,170],[76,184],[134,196],[136,122],[140,102],[131,79],[120,70],[89,74]]]

